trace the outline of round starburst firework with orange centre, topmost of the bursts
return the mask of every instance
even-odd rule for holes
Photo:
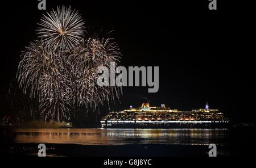
[[[80,37],[84,36],[84,21],[76,10],[71,7],[57,7],[43,15],[40,19],[38,35],[47,41],[50,48],[69,50]]]

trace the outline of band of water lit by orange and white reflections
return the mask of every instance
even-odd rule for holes
[[[16,143],[229,145],[229,129],[14,129]]]

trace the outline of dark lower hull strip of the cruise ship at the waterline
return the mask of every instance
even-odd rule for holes
[[[186,129],[186,128],[229,128],[229,123],[164,123],[164,124],[155,124],[155,123],[112,123],[112,124],[102,124],[102,128],[147,128],[147,129]]]

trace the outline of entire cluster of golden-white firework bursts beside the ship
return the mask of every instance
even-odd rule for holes
[[[23,94],[38,96],[44,119],[61,121],[71,107],[96,108],[114,101],[121,87],[98,86],[99,66],[119,62],[121,53],[113,39],[83,39],[84,22],[71,7],[57,7],[43,15],[39,37],[22,53],[17,78]]]

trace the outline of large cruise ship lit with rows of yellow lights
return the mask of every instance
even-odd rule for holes
[[[142,103],[139,108],[110,112],[101,119],[102,128],[228,128],[229,119],[217,109],[205,108],[179,111],[161,104],[150,107]]]

